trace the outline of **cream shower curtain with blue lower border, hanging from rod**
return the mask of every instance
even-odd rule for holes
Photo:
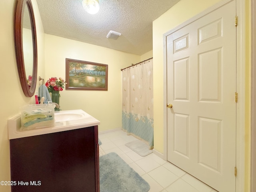
[[[153,143],[153,59],[122,70],[122,129]]]

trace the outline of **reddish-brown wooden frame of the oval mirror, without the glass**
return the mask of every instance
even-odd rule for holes
[[[23,54],[23,41],[22,41],[22,27],[23,27],[23,14],[25,6],[28,6],[28,12],[30,16],[30,24],[32,30],[32,44],[33,44],[33,72],[32,72],[32,85],[28,86],[24,64]],[[36,42],[36,22],[34,17],[34,11],[31,0],[18,0],[15,15],[15,46],[16,46],[16,60],[18,66],[18,72],[20,76],[20,83],[22,90],[27,97],[32,97],[36,90],[37,80],[37,42]]]

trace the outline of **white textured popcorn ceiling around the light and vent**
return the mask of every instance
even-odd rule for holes
[[[153,49],[152,22],[179,0],[99,0],[88,14],[82,0],[37,0],[46,34],[142,55]],[[108,32],[122,35],[106,38]]]

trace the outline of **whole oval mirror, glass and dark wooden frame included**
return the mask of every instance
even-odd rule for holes
[[[18,0],[15,16],[16,60],[22,90],[32,97],[36,90],[36,23],[31,0]]]

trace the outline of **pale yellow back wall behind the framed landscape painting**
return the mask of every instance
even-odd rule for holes
[[[62,77],[66,80],[66,58],[107,64],[108,91],[63,90],[60,92],[61,109],[84,110],[100,121],[99,131],[121,128],[122,73],[120,69],[140,62],[140,56],[46,34],[45,81],[50,77]]]

